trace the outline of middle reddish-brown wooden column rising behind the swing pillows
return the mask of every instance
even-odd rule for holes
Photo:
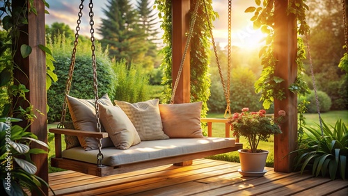
[[[172,1],[172,78],[173,86],[184,54],[187,35],[189,33],[190,0]],[[180,82],[174,97],[175,103],[190,102],[190,52],[187,51]]]

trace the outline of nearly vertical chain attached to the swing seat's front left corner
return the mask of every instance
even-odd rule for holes
[[[92,42],[92,45],[90,46],[90,49],[92,50],[92,67],[93,67],[93,87],[94,87],[94,104],[95,104],[95,118],[97,120],[97,130],[101,133],[102,132],[102,125],[100,124],[100,113],[99,113],[99,104],[98,104],[98,81],[97,81],[97,60],[95,58],[95,37],[94,37],[94,20],[93,20],[93,0],[90,0],[90,3],[88,4],[88,7],[90,8],[89,16],[90,16],[90,42]],[[102,138],[99,138],[98,142],[98,154],[97,154],[97,166],[102,167],[102,161],[104,158],[104,155],[102,154]]]

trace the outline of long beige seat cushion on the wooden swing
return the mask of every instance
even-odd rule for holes
[[[106,147],[102,149],[102,154],[104,165],[117,166],[228,147],[235,147],[234,138],[171,138],[142,141],[129,149]],[[74,147],[62,152],[63,158],[94,164],[97,163],[97,154],[97,149],[85,151],[82,147]]]

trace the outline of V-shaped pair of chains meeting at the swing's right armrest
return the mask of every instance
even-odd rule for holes
[[[227,78],[228,78],[228,81],[227,81],[227,87],[226,87],[226,83],[223,79],[223,74],[222,74],[222,71],[221,71],[221,65],[220,65],[220,61],[219,61],[219,56],[217,54],[217,51],[216,51],[216,43],[215,43],[215,40],[214,40],[214,35],[213,35],[213,31],[212,31],[212,24],[210,22],[210,19],[209,19],[209,15],[207,13],[207,6],[205,5],[204,3],[204,8],[205,8],[205,13],[207,15],[207,22],[208,22],[208,27],[209,27],[209,30],[210,30],[210,36],[212,37],[212,44],[213,44],[213,49],[214,49],[214,54],[215,54],[215,59],[216,59],[216,64],[219,68],[219,74],[220,74],[220,79],[221,79],[221,84],[222,84],[222,87],[223,87],[223,93],[225,95],[225,98],[226,98],[226,111],[225,111],[225,114],[223,115],[223,117],[227,118],[227,113],[229,114],[229,117],[231,116],[231,111],[230,111],[230,70],[231,70],[231,63],[230,63],[230,54],[231,54],[231,38],[232,38],[232,35],[231,35],[231,28],[232,28],[232,19],[231,19],[231,16],[232,16],[232,0],[229,0],[228,1],[228,75],[227,75]]]

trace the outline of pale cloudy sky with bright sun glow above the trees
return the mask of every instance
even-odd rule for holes
[[[95,28],[97,29],[101,23],[101,18],[104,17],[102,9],[106,9],[108,0],[94,1],[94,21]],[[153,5],[153,0],[150,0]],[[68,24],[73,30],[77,26],[77,13],[79,13],[79,0],[47,0],[50,8],[48,9],[49,15],[46,15],[46,24],[52,24],[53,22],[64,22]],[[84,12],[82,16],[81,34],[90,35],[88,25],[88,3],[84,2]],[[135,5],[136,0],[131,0],[131,3]],[[262,40],[262,33],[253,29],[253,23],[250,18],[253,16],[251,13],[244,13],[244,10],[249,6],[255,6],[254,1],[234,0],[232,1],[232,45],[239,47],[257,47],[260,46],[259,41]],[[221,47],[225,47],[228,40],[228,0],[213,0],[214,11],[219,13],[219,19],[213,22],[214,25],[214,38],[215,42],[219,43]],[[156,10],[157,11],[157,10]],[[161,36],[161,35],[159,35]],[[264,35],[263,35],[264,36]],[[95,31],[95,38],[101,39],[98,35],[98,31]]]

